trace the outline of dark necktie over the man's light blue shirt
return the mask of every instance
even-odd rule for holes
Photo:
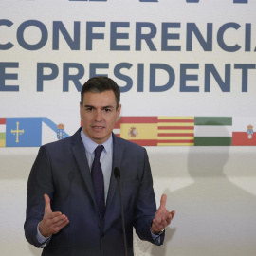
[[[104,178],[101,169],[101,152],[104,146],[98,146],[94,151],[94,160],[92,164],[91,176],[95,192],[96,203],[103,219],[105,214],[105,196],[104,196]]]

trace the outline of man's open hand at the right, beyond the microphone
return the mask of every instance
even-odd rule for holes
[[[151,227],[152,231],[155,233],[159,233],[162,229],[165,229],[165,227],[168,226],[174,218],[175,210],[170,212],[165,208],[166,199],[166,194],[163,194],[161,197],[160,207],[155,213],[155,218]]]

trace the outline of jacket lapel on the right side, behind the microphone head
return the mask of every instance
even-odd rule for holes
[[[116,194],[116,191],[118,190],[118,182],[116,180],[113,170],[115,167],[118,167],[120,170],[121,159],[123,155],[123,148],[120,145],[119,137],[116,137],[113,133],[112,133],[112,136],[113,136],[113,164],[112,164],[112,173],[111,173],[110,184],[109,184],[108,195],[107,195],[106,211],[109,208],[109,205],[113,199],[113,196]]]

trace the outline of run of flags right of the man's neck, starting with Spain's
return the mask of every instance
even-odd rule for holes
[[[256,117],[121,117],[114,132],[141,146],[256,146]]]

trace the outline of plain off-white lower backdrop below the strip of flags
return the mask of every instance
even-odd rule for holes
[[[135,239],[136,255],[255,254],[256,159],[251,147],[148,147],[155,197],[176,210],[166,243]],[[37,148],[1,152],[0,254],[40,255],[23,231],[27,176]]]

